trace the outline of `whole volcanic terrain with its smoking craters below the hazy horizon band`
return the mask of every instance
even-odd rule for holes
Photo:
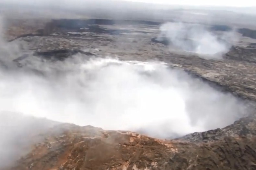
[[[0,169],[255,169],[251,26],[2,25]]]

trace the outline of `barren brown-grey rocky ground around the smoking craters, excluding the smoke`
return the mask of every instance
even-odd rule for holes
[[[19,54],[12,58],[19,68],[33,58],[64,61],[77,53],[85,58],[162,61],[247,102],[252,112],[227,127],[177,139],[23,117],[29,120],[26,126],[37,124],[37,129],[16,136],[16,147],[9,152],[15,153],[17,161],[3,170],[256,169],[256,30],[238,28],[239,41],[223,59],[205,59],[169,50],[165,42],[155,39],[162,24],[155,21],[22,18],[6,23],[8,44],[22,42]],[[229,26],[207,27],[226,31]],[[1,61],[1,67],[8,66]],[[17,117],[2,116],[6,122]]]

